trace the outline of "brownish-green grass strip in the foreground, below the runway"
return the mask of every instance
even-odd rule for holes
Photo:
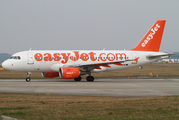
[[[25,120],[179,118],[179,96],[120,98],[1,93],[0,98],[1,115]]]

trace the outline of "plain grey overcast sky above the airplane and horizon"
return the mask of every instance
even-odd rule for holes
[[[0,53],[132,49],[157,20],[179,51],[179,0],[0,0]]]

